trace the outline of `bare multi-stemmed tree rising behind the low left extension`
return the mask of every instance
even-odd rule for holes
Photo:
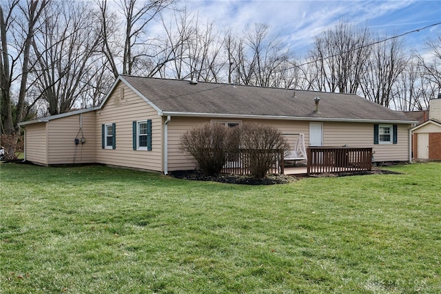
[[[100,39],[86,3],[54,2],[48,8],[32,42],[35,86],[48,102],[50,115],[57,115],[94,92],[95,75],[90,73],[101,61],[96,55]]]

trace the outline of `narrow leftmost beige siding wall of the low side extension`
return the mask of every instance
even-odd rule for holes
[[[26,161],[34,164],[48,165],[48,135],[47,123],[30,124],[26,126],[25,156]]]

